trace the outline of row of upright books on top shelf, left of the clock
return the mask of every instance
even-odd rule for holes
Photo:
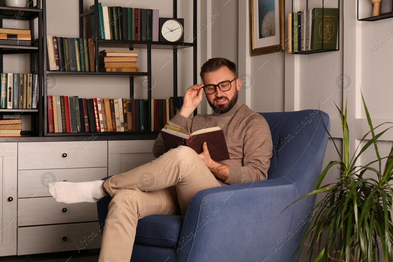
[[[90,10],[94,5],[90,6]],[[158,9],[102,6],[98,3],[99,38],[108,40],[158,41]],[[95,15],[92,14],[95,32]]]

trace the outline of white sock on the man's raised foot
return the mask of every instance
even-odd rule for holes
[[[49,183],[49,193],[57,202],[66,204],[90,202],[94,203],[107,196],[102,187],[104,181],[95,180],[88,182],[55,182]]]

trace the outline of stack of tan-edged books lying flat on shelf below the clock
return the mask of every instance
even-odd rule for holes
[[[140,72],[136,67],[139,51],[133,50],[102,50],[99,52],[100,72]]]

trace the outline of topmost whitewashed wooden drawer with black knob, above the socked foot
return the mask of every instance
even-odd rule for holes
[[[107,141],[18,143],[18,170],[107,167]]]

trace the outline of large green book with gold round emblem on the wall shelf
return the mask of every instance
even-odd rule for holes
[[[322,8],[314,8],[312,11],[311,49],[337,49],[338,31],[338,8],[323,8],[323,30],[322,30]]]

